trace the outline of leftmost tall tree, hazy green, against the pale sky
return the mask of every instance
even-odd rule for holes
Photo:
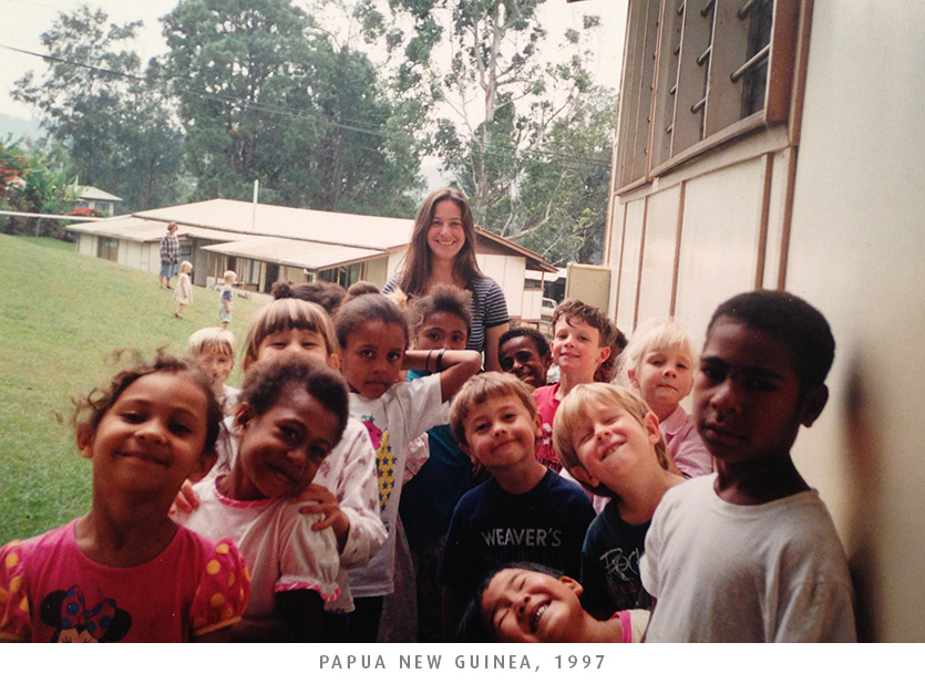
[[[50,58],[43,77],[29,72],[12,93],[42,113],[80,183],[123,197],[127,209],[175,198],[182,154],[162,94],[124,46],[140,25],[109,23],[88,6],[59,13],[41,37]]]

